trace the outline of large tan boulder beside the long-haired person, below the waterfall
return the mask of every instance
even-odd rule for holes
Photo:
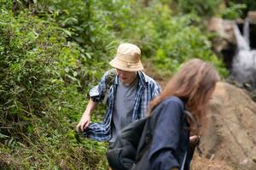
[[[201,146],[209,158],[227,160],[241,170],[255,169],[256,103],[246,91],[218,83]]]

